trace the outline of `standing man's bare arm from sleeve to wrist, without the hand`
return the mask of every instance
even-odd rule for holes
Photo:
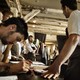
[[[66,62],[66,60],[69,59],[69,57],[72,55],[73,51],[75,50],[76,46],[79,43],[80,36],[77,34],[71,34],[66,41],[58,59],[59,59],[59,64],[63,64]]]

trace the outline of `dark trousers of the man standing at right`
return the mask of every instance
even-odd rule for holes
[[[70,58],[64,80],[80,80],[80,46],[77,46]]]

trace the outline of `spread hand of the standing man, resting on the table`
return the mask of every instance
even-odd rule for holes
[[[43,73],[42,76],[48,79],[56,79],[60,74],[60,69],[61,66],[58,64],[57,61],[55,61],[50,67],[48,67],[47,72]]]

